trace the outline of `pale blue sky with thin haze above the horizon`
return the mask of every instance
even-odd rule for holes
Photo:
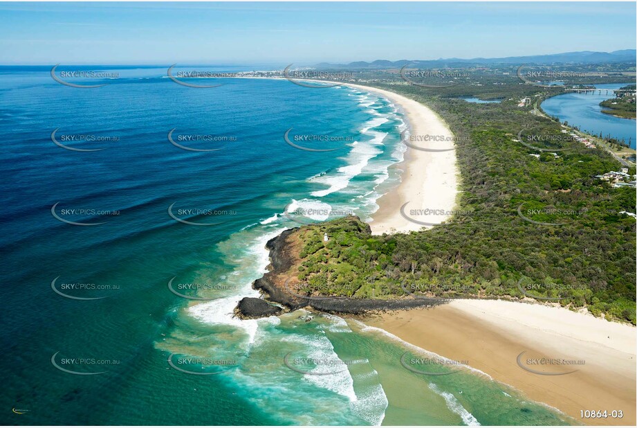
[[[636,47],[635,2],[0,3],[0,64],[316,64]]]

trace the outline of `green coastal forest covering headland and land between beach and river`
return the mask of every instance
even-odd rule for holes
[[[376,86],[423,102],[461,137],[459,214],[409,234],[371,235],[352,217],[303,226],[297,280],[304,293],[530,296],[636,323],[636,223],[625,214],[635,211],[634,188],[596,179],[620,163],[567,138],[568,128],[538,114],[533,102],[518,105],[521,96],[537,100],[562,89],[515,80],[488,91],[398,80]],[[504,100],[474,104],[454,98],[460,95]],[[520,133],[543,150],[522,144]]]

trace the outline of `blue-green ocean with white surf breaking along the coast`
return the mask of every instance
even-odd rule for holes
[[[468,368],[434,381],[416,375],[400,364],[406,344],[356,321],[309,319],[304,311],[232,318],[241,297],[257,296],[250,285],[268,265],[266,241],[297,226],[286,207],[368,219],[397,183],[389,167],[402,159],[405,125],[389,101],[272,80],[190,89],[163,78],[164,69],[118,71],[108,86],[88,90],[58,84],[44,68],[0,69],[0,402],[27,410],[2,413],[1,422],[569,422]],[[57,128],[58,140],[118,139],[64,141],[106,149],[77,152],[51,141]],[[192,152],[168,141],[175,128],[176,138],[228,138],[178,140],[221,149]],[[351,139],[307,143],[339,148],[307,152],[284,141],[290,128],[291,135]],[[64,220],[104,224],[57,220],[55,204]],[[179,222],[170,206],[181,220],[216,224]],[[180,294],[210,300],[174,294],[171,280]]]

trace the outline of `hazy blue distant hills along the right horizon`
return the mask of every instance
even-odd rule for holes
[[[530,55],[521,57],[504,58],[447,58],[439,60],[376,60],[372,62],[357,61],[349,64],[330,64],[322,62],[316,64],[321,69],[394,69],[405,64],[413,64],[421,67],[445,67],[445,66],[468,66],[468,65],[495,65],[495,64],[595,64],[602,62],[636,62],[637,51],[635,49],[622,49],[613,52],[566,52],[553,53],[551,55]]]

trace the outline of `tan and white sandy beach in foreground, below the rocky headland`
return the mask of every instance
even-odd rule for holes
[[[635,425],[633,326],[562,307],[489,300],[452,301],[432,309],[370,316],[363,322],[443,357],[466,360],[585,425]],[[574,364],[537,364],[541,358]],[[581,418],[582,410],[622,411],[623,418]]]

